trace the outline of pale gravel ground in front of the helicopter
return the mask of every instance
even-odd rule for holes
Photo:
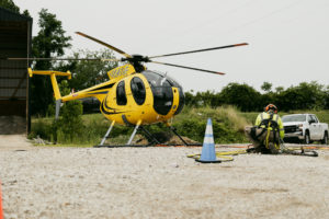
[[[201,148],[8,143],[0,136],[5,219],[329,218],[328,150],[201,164],[186,158]]]

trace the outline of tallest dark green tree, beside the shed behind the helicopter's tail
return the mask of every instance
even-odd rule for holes
[[[32,41],[32,55],[36,58],[50,58],[64,55],[66,48],[69,48],[71,37],[65,35],[61,27],[61,21],[56,19],[55,14],[46,9],[39,12],[39,32]],[[52,61],[36,61],[33,65],[37,70],[54,69]],[[53,102],[53,90],[49,77],[35,76],[31,80],[31,105],[32,114],[45,115],[48,104]]]

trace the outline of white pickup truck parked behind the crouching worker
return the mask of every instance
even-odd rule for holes
[[[282,116],[284,140],[310,143],[318,140],[328,145],[328,124],[320,123],[314,114],[291,114]]]

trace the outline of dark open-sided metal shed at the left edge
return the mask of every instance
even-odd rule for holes
[[[0,8],[0,135],[30,131],[29,74],[32,19]]]

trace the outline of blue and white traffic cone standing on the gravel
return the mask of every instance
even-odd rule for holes
[[[211,118],[208,118],[208,122],[207,122],[201,157],[200,157],[200,159],[196,159],[196,161],[202,162],[202,163],[220,163],[222,162],[216,159],[215,142],[214,142],[214,135],[213,135],[213,124],[212,124]]]

